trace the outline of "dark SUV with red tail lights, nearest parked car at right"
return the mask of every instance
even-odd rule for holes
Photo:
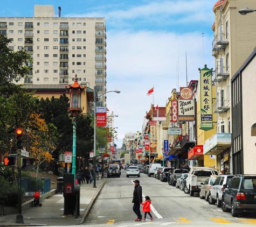
[[[222,210],[237,217],[243,211],[256,211],[256,175],[234,176],[224,185]]]

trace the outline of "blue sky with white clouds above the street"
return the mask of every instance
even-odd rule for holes
[[[12,0],[0,17],[33,17],[34,5],[53,5],[61,17],[105,17],[107,34],[107,108],[118,127],[117,147],[125,133],[142,131],[151,103],[165,107],[172,89],[199,79],[198,68],[215,68],[212,56],[219,0]],[[72,4],[71,4],[72,3]],[[154,87],[153,96],[147,96]]]

